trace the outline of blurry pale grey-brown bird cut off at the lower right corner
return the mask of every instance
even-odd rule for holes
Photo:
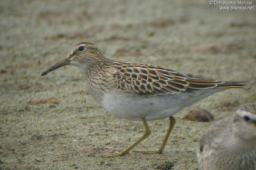
[[[256,103],[244,104],[213,123],[199,145],[202,170],[256,170]]]

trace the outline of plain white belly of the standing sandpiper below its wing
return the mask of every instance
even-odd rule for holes
[[[141,117],[145,116],[146,120],[152,121],[172,116],[182,108],[221,90],[224,89],[207,89],[152,97],[138,95],[124,97],[120,94],[105,93],[101,105],[119,118],[141,121]]]

